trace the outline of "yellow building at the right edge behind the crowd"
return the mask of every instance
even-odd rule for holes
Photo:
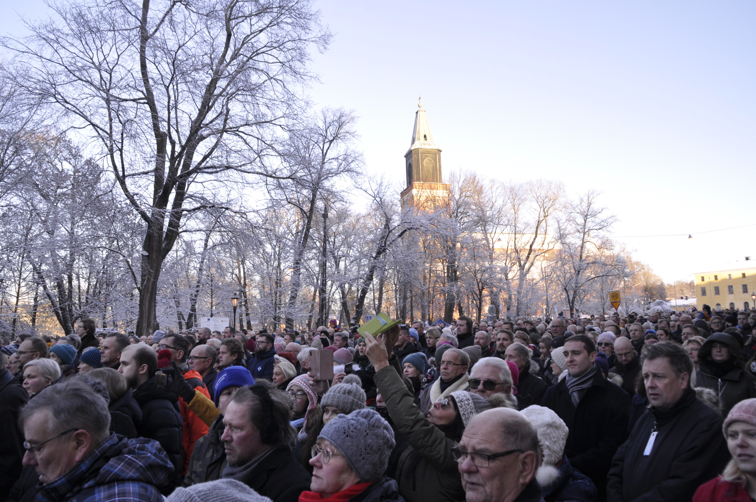
[[[733,265],[736,265],[733,263]],[[744,264],[745,265],[745,264]],[[712,310],[752,308],[756,293],[756,267],[723,268],[717,271],[696,272],[696,306],[704,304]]]

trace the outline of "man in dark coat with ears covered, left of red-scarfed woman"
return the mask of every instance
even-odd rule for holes
[[[290,399],[266,383],[238,389],[223,416],[228,460],[223,478],[237,479],[273,502],[297,502],[311,476],[291,452],[296,434],[291,414]]]

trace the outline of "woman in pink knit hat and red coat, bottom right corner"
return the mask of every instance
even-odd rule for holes
[[[722,424],[733,459],[721,476],[699,486],[693,502],[756,500],[756,398],[733,406]]]

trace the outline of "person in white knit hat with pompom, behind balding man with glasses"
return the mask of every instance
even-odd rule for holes
[[[564,454],[569,430],[564,420],[547,407],[533,404],[522,410],[538,431],[538,472],[535,478],[545,500],[596,500],[596,485],[574,469]]]

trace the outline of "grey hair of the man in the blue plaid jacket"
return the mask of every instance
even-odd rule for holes
[[[95,445],[110,435],[110,412],[107,401],[90,386],[78,379],[70,379],[39,392],[21,408],[18,423],[23,429],[34,414],[47,411],[51,431],[84,429]]]

